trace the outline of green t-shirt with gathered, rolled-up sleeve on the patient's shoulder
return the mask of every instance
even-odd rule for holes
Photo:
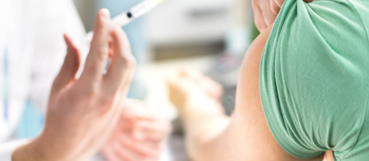
[[[288,153],[369,160],[369,0],[285,0],[260,63],[263,109]]]

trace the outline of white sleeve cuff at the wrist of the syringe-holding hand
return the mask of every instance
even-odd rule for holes
[[[21,145],[27,144],[28,140],[15,140],[0,144],[0,161],[11,161],[14,150]]]

